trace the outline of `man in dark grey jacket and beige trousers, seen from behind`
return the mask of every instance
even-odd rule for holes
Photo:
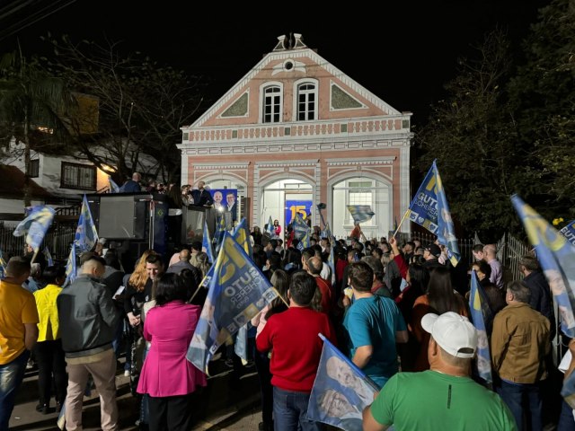
[[[66,429],[82,429],[82,403],[88,374],[100,394],[103,431],[118,429],[116,356],[112,348],[119,320],[111,293],[102,282],[106,261],[86,256],[81,274],[57,295],[57,312],[66,355]]]

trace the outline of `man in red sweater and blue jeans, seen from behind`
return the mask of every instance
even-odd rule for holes
[[[282,431],[319,431],[322,424],[306,419],[309,395],[322,356],[322,333],[335,344],[332,324],[310,303],[316,289],[314,277],[296,272],[289,285],[289,308],[274,314],[256,338],[261,352],[272,350],[270,360],[275,428]]]

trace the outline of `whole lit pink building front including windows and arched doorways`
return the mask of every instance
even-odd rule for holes
[[[263,226],[296,213],[347,236],[347,205],[370,205],[362,229],[387,235],[410,204],[411,113],[332,66],[301,35],[276,47],[189,127],[181,183],[238,189],[241,215]],[[321,214],[316,205],[326,204]],[[404,224],[402,231],[409,229]]]

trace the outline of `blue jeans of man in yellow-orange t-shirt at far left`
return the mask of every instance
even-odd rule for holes
[[[0,365],[0,431],[8,430],[16,390],[22,384],[30,352],[24,350],[12,362]]]

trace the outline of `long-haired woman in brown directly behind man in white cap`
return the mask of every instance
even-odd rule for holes
[[[410,330],[420,343],[415,371],[429,370],[429,332],[421,327],[421,319],[428,312],[435,312],[436,314],[456,312],[469,317],[467,303],[465,303],[464,297],[454,290],[451,284],[451,273],[447,267],[437,267],[431,271],[427,293],[420,295],[413,303]]]

